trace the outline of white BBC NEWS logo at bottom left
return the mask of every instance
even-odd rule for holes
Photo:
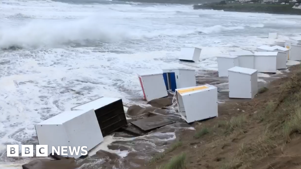
[[[81,155],[87,155],[87,146],[51,146],[51,154],[57,155],[68,155],[68,150],[70,155],[79,155],[80,150],[85,153]],[[33,157],[33,145],[21,145],[21,157]],[[61,151],[60,151],[61,150]],[[48,157],[48,145],[36,145],[36,157]],[[19,157],[19,145],[7,145],[7,157]]]

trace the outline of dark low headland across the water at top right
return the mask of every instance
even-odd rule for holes
[[[293,5],[260,4],[260,3],[228,3],[226,5],[193,5],[194,9],[212,9],[228,12],[256,12],[267,14],[301,15],[300,9],[292,8]]]

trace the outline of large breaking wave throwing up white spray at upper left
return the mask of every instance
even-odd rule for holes
[[[57,47],[78,43],[84,45],[87,41],[113,43],[119,41],[147,40],[158,37],[185,37],[199,33],[211,34],[235,29],[242,26],[224,27],[220,25],[194,29],[161,29],[145,31],[116,27],[104,23],[100,19],[88,18],[69,22],[31,22],[18,27],[0,29],[0,48],[36,48]]]

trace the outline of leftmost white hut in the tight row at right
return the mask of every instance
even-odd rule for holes
[[[228,77],[228,69],[239,66],[238,56],[218,56],[217,57],[217,67],[219,72],[219,77]]]

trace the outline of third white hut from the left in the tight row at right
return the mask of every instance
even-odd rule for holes
[[[254,69],[261,73],[276,73],[278,52],[255,52]]]

